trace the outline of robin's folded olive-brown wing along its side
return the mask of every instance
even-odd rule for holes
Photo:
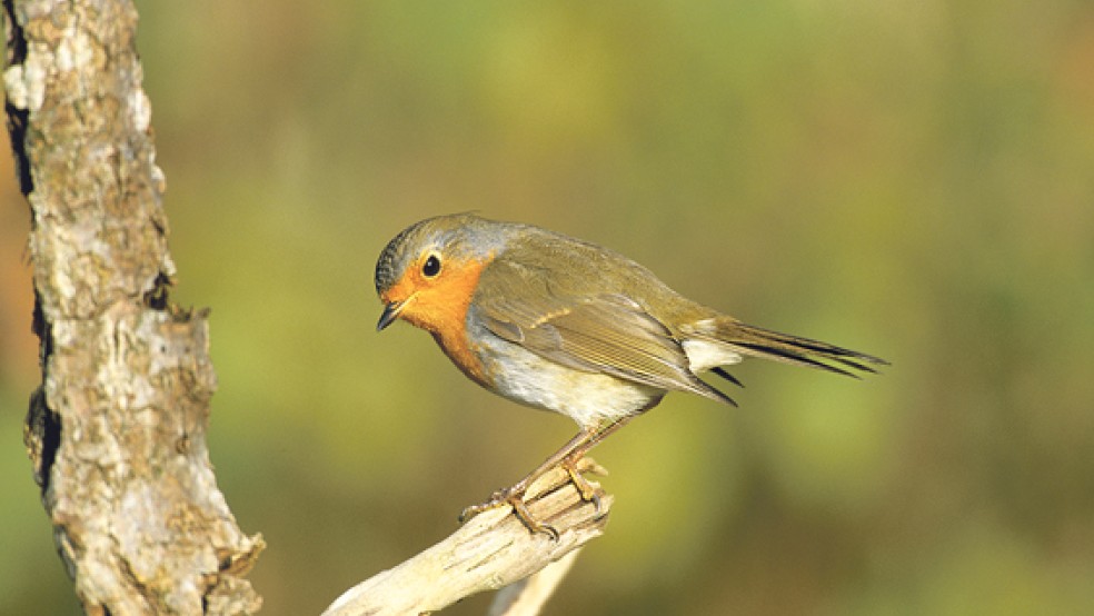
[[[735,404],[696,377],[672,331],[621,294],[559,294],[550,280],[493,264],[476,297],[477,317],[498,337],[589,372]]]

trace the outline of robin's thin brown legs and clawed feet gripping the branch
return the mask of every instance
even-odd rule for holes
[[[578,468],[578,463],[589,449],[604,440],[604,438],[609,434],[618,430],[629,419],[630,417],[628,416],[581,428],[581,431],[577,433],[577,435],[569,439],[569,441],[567,441],[566,445],[564,445],[558,451],[551,454],[549,458],[544,460],[543,464],[537,466],[535,470],[529,473],[524,479],[520,479],[515,485],[506,489],[494,493],[490,499],[486,503],[471,505],[464,509],[459,516],[459,520],[466,521],[483,511],[508,505],[513,507],[514,515],[517,516],[517,519],[519,519],[520,523],[528,528],[528,530],[533,533],[544,533],[555,539],[558,539],[558,530],[549,525],[540,523],[531,515],[530,511],[528,511],[528,507],[524,501],[525,493],[536,479],[558,466],[566,470],[566,474],[569,475],[570,483],[574,484],[575,488],[577,488],[581,499],[587,503],[593,503],[596,510],[599,511],[600,497],[596,494],[596,490],[589,484],[588,479],[581,475],[581,471]]]

